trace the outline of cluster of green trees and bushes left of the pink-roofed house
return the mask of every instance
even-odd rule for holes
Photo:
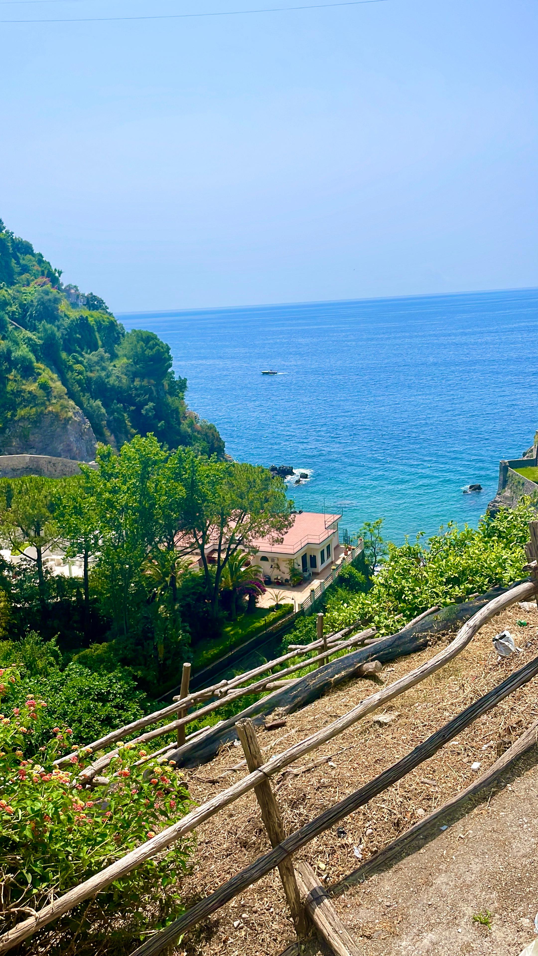
[[[154,436],[119,453],[101,445],[98,464],[0,480],[0,539],[21,555],[0,563],[0,664],[24,664],[23,688],[81,742],[138,716],[178,683],[183,661],[224,653],[227,624],[239,636],[245,618],[263,627],[250,543],[292,521],[265,468],[169,451]],[[78,558],[82,575],[52,574],[48,548]]]

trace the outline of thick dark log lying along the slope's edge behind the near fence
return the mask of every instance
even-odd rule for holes
[[[264,722],[265,715],[276,707],[279,707],[286,714],[293,713],[295,710],[311,704],[312,701],[317,700],[338,684],[356,677],[361,664],[372,660],[388,663],[395,658],[424,650],[433,636],[446,633],[460,622],[474,619],[477,612],[487,607],[492,600],[501,598],[501,609],[503,609],[516,600],[516,598],[512,600],[511,597],[507,597],[508,603],[504,604],[504,596],[509,596],[511,592],[516,593],[516,588],[527,588],[527,591],[518,591],[518,594],[527,592],[531,594],[536,586],[532,581],[528,581],[516,585],[514,588],[492,588],[487,594],[474,601],[450,604],[448,607],[441,608],[435,614],[418,621],[413,628],[404,628],[388,638],[379,638],[373,641],[372,646],[349,653],[346,657],[338,658],[338,660],[325,664],[324,667],[307,674],[292,687],[283,688],[280,693],[273,694],[270,700],[266,698],[258,701],[258,704],[249,707],[248,716],[252,717],[256,726],[259,726]],[[523,598],[518,597],[517,599],[522,600]],[[356,637],[351,640],[356,640]],[[452,647],[452,644],[449,646]],[[442,666],[442,664],[439,666]],[[177,754],[177,765],[180,767],[197,767],[213,760],[213,756],[223,744],[236,739],[236,719],[236,717],[230,717],[224,721],[218,730],[214,730],[213,734],[209,734],[204,739],[203,744],[196,745],[193,743],[191,747],[182,748],[181,754]],[[172,754],[172,759],[176,760],[175,754]]]

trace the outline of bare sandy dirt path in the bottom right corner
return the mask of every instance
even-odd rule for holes
[[[333,902],[365,956],[517,956],[538,911],[536,755],[488,804]],[[527,771],[521,773],[527,763]],[[491,928],[473,915],[491,914]]]

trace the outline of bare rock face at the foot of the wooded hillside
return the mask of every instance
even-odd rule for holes
[[[45,412],[32,424],[14,424],[0,436],[2,455],[45,455],[92,462],[97,441],[93,428],[76,404],[68,414]]]

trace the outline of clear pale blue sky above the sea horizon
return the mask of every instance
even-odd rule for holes
[[[537,28],[537,0],[2,23],[0,215],[118,312],[536,286]]]

